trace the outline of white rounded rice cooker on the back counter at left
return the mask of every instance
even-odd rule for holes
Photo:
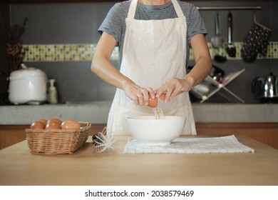
[[[27,68],[11,72],[9,77],[9,101],[13,104],[41,104],[47,100],[46,73]]]

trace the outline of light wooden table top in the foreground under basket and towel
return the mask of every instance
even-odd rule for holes
[[[184,136],[195,137],[195,136]],[[206,137],[198,135],[198,137]],[[30,154],[26,141],[0,151],[0,185],[278,185],[278,150],[236,135],[244,154],[118,154],[94,151],[91,137],[74,154]]]

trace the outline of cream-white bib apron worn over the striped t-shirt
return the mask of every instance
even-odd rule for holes
[[[138,0],[133,0],[125,19],[126,31],[120,72],[145,88],[158,89],[169,77],[182,78],[186,74],[186,19],[176,0],[172,0],[177,13],[175,19],[134,19]],[[196,134],[188,92],[175,96],[169,103],[159,101],[164,115],[186,116],[182,134]],[[127,116],[154,115],[148,106],[138,106],[125,91],[116,89],[108,115],[108,134],[130,134]]]

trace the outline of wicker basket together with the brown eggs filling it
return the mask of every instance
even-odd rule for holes
[[[85,144],[90,130],[89,122],[41,119],[25,131],[31,154],[73,154]]]

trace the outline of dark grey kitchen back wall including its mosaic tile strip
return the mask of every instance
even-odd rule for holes
[[[98,79],[91,73],[91,58],[100,35],[98,27],[117,1],[43,1],[43,0],[11,0],[1,1],[0,4],[0,91],[5,94],[9,76],[8,59],[6,55],[7,29],[14,24],[24,24],[21,39],[24,46],[29,47],[24,63],[29,67],[36,67],[46,72],[48,79],[56,79],[59,103],[112,101],[115,88]],[[200,14],[205,21],[208,34],[207,42],[210,46],[213,64],[225,72],[225,75],[246,69],[237,76],[227,88],[247,104],[261,103],[251,91],[251,84],[255,77],[264,77],[273,72],[278,76],[278,2],[265,1],[187,1],[195,6],[259,6],[261,9],[231,9],[233,16],[233,41],[237,44],[237,56],[230,58],[223,49],[216,51],[210,45],[210,39],[215,35],[215,14],[219,14],[220,34],[227,42],[227,14],[229,10],[202,10]],[[240,48],[242,41],[254,23],[257,21],[272,29],[267,57],[261,56],[252,63],[242,60]],[[117,49],[112,58],[118,67]],[[227,57],[227,61],[219,62],[214,59],[215,54]],[[193,66],[190,57],[188,66]],[[225,98],[226,96],[226,98]],[[195,95],[191,95],[193,102],[200,102]],[[233,96],[222,91],[215,94],[205,103],[237,102]]]

